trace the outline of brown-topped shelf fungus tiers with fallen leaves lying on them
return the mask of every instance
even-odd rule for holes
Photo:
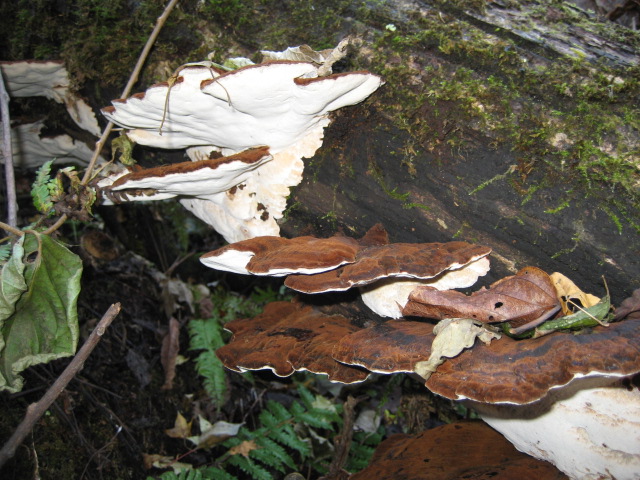
[[[308,370],[342,383],[371,373],[418,374],[431,392],[467,402],[518,450],[571,478],[637,478],[637,295],[614,316],[608,295],[582,294],[566,277],[534,267],[469,295],[452,290],[486,273],[488,265],[474,264],[488,263],[489,252],[464,242],[393,244],[379,226],[360,239],[266,237],[228,245],[202,262],[284,276],[285,285],[305,293],[368,290],[393,279],[421,285],[401,293],[395,307],[403,315],[386,320],[323,313],[305,304],[305,295],[275,302],[255,318],[228,323],[233,337],[218,356],[236,371]],[[458,280],[447,280],[451,274]]]

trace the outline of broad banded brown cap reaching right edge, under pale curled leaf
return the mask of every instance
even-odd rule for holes
[[[640,320],[625,320],[578,335],[479,343],[440,365],[426,386],[453,400],[526,404],[576,377],[638,372]]]

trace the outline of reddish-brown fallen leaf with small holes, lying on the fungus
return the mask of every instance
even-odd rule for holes
[[[480,322],[509,322],[521,333],[551,318],[560,310],[556,290],[544,271],[525,267],[517,274],[471,295],[455,290],[418,287],[409,295],[404,316],[470,318]]]

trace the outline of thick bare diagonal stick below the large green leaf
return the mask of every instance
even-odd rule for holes
[[[2,450],[0,450],[0,468],[2,468],[7,460],[13,457],[16,449],[33,429],[36,422],[67,387],[71,379],[82,369],[84,362],[118,313],[120,313],[120,304],[114,303],[102,316],[96,328],[91,332],[91,335],[89,335],[89,338],[84,342],[84,345],[82,345],[82,348],[78,350],[76,356],[69,362],[67,368],[64,369],[49,390],[47,390],[38,402],[32,403],[27,407],[27,413],[22,419],[22,422],[20,422],[20,425],[18,425],[18,428],[13,432],[11,438],[7,440]]]

